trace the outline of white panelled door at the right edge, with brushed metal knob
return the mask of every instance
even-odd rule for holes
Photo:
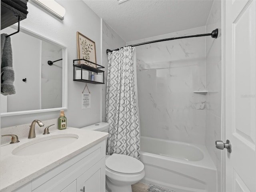
[[[256,0],[226,0],[226,192],[256,192]]]

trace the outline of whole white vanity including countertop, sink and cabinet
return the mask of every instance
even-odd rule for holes
[[[0,191],[105,192],[107,136],[67,128],[1,146]]]

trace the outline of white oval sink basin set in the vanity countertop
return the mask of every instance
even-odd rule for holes
[[[18,146],[12,150],[12,154],[19,156],[42,154],[63,148],[75,142],[77,139],[78,135],[76,134],[58,134],[46,136],[44,138],[38,138]]]

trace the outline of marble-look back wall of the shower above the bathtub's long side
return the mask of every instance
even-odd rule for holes
[[[128,42],[205,33],[205,26]],[[141,135],[205,144],[205,37],[136,47]]]

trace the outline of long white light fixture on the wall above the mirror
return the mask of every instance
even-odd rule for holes
[[[40,7],[44,8],[54,16],[58,17],[60,20],[64,19],[64,15],[66,13],[66,10],[64,7],[62,7],[60,4],[58,4],[54,0],[32,0]]]

